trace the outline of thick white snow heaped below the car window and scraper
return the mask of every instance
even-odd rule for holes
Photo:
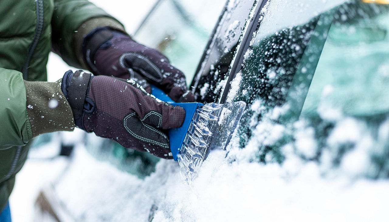
[[[252,109],[263,107],[257,101]],[[313,161],[318,145],[307,121],[272,122],[286,110],[253,120],[254,136],[244,149],[235,135],[227,158],[226,151],[212,152],[191,187],[182,184],[177,162],[161,160],[156,172],[141,180],[81,148],[56,191],[76,221],[384,221],[389,181],[360,176],[370,164],[368,145],[374,144],[367,128],[352,118],[338,121],[328,149]],[[389,135],[388,128],[383,123],[379,134]],[[288,134],[294,139],[280,147],[282,164],[271,154],[266,165],[258,162],[261,147]],[[350,141],[357,145],[334,168],[331,154]]]

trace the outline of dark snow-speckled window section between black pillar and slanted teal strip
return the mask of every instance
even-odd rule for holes
[[[294,77],[299,75],[299,66],[306,57],[310,62],[305,69],[310,64],[310,68],[315,69],[331,24],[331,15],[320,14],[326,4],[326,1],[315,4],[305,0],[269,1],[263,11],[264,17],[259,21],[258,31],[244,55],[243,69],[237,73],[236,78],[242,78],[240,90],[230,90],[228,101],[236,93],[239,100],[249,104],[260,97],[267,106],[276,106],[284,102],[290,93],[289,88],[298,80],[310,84],[309,78],[313,74],[304,75],[306,80]],[[321,35],[316,36],[316,33]]]

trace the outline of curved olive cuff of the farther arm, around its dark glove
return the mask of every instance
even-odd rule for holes
[[[83,69],[89,69],[89,68],[85,64],[84,57],[82,56],[82,42],[84,41],[85,36],[87,36],[93,29],[98,27],[109,27],[111,29],[126,33],[122,24],[109,17],[93,18],[83,23],[77,29],[74,35],[74,44],[75,44],[74,46],[77,55],[77,60],[80,62]]]

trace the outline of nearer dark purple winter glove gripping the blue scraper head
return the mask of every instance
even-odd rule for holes
[[[182,125],[185,110],[157,101],[134,81],[67,71],[61,90],[75,125],[124,147],[173,158],[166,130]]]

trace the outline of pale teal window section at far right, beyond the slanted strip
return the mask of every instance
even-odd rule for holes
[[[343,19],[329,29],[302,114],[315,112],[320,103],[352,116],[389,110],[387,9]]]

